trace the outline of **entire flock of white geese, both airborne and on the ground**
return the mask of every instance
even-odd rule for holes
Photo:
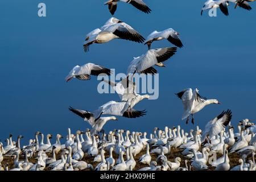
[[[113,15],[119,2],[133,5],[135,8],[150,13],[151,9],[142,0],[110,0],[108,5]],[[247,2],[253,0],[209,0],[205,3],[204,10],[220,7],[221,11],[228,15],[228,3],[236,3],[244,9],[250,10]],[[98,170],[98,171],[189,171],[189,170],[236,170],[255,171],[254,160],[256,150],[256,126],[249,119],[243,119],[238,123],[238,133],[234,133],[234,127],[230,121],[232,111],[226,110],[207,123],[204,130],[199,126],[196,130],[185,133],[180,126],[165,127],[164,130],[155,128],[147,138],[147,133],[129,130],[113,130],[105,133],[104,125],[108,121],[117,121],[117,117],[138,118],[146,114],[145,110],[135,110],[134,106],[144,99],[150,98],[148,94],[136,93],[136,84],[133,76],[137,74],[156,74],[154,68],[165,67],[164,61],[170,59],[182,48],[183,43],[179,38],[179,32],[172,28],[163,31],[153,31],[146,39],[143,38],[129,24],[117,18],[110,18],[103,26],[96,28],[86,35],[84,51],[89,51],[89,46],[98,43],[107,43],[113,39],[130,40],[147,44],[148,51],[139,57],[134,57],[127,67],[127,77],[119,82],[102,79],[115,90],[119,101],[109,101],[94,111],[75,109],[69,107],[84,121],[89,123],[90,129],[71,133],[63,137],[56,135],[56,142],[52,143],[51,134],[46,135],[39,131],[35,138],[28,141],[27,146],[20,146],[22,135],[13,141],[10,134],[6,144],[0,142],[0,171],[43,171],[43,170]],[[176,47],[151,49],[154,41],[166,39]],[[110,75],[112,71],[102,65],[87,63],[76,65],[65,78],[67,82],[73,78],[90,80],[91,76],[101,74]],[[176,93],[180,98],[184,113],[182,119],[186,123],[194,124],[194,115],[210,104],[220,104],[216,99],[207,99],[199,94],[196,88],[184,89]],[[102,117],[102,115],[110,115]],[[125,137],[123,135],[125,134]],[[40,137],[40,141],[39,141]],[[61,142],[61,140],[64,140]],[[215,156],[212,160],[212,156]],[[238,159],[232,161],[233,156]],[[229,159],[230,158],[230,159]],[[238,162],[238,163],[237,163]],[[3,165],[1,163],[4,163]]]

